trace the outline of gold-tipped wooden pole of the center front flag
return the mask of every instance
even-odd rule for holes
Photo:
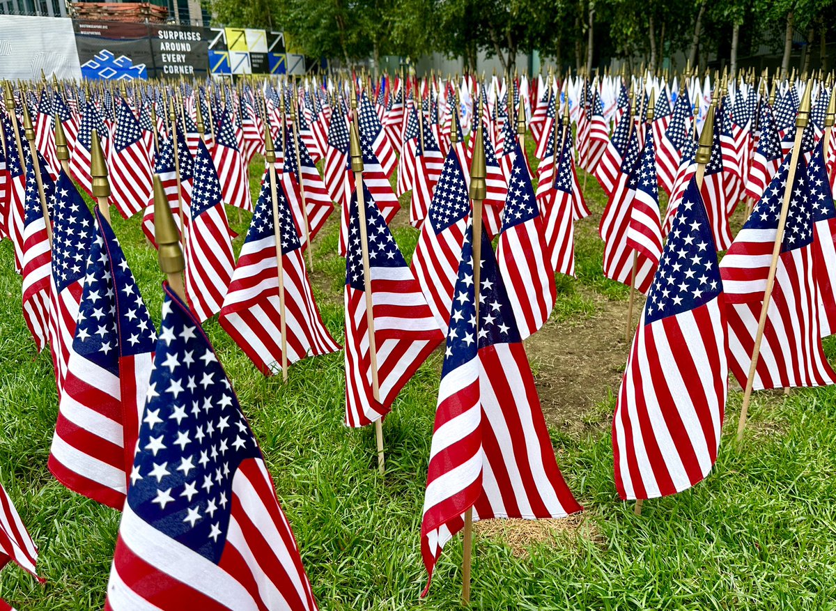
[[[473,201],[472,217],[472,245],[473,245],[473,291],[476,303],[476,336],[479,337],[479,293],[482,275],[482,202],[487,197],[485,176],[485,135],[482,125],[482,96],[479,97],[479,115],[474,116],[478,121],[476,140],[473,143],[473,160],[471,163],[470,198]],[[557,130],[557,125],[555,125]],[[470,604],[471,566],[473,556],[473,507],[465,512],[464,540],[461,553],[461,603]]]

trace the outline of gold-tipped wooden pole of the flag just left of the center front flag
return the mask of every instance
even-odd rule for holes
[[[351,171],[354,172],[354,188],[357,192],[357,214],[360,225],[360,249],[363,254],[363,282],[366,302],[366,334],[369,338],[369,358],[371,364],[371,389],[375,401],[380,403],[380,381],[377,371],[377,344],[375,342],[375,312],[371,293],[371,266],[369,262],[369,235],[366,227],[365,193],[363,185],[363,150],[360,148],[360,136],[357,116],[357,93],[352,88],[351,109],[354,120],[351,121],[349,132],[349,155],[351,155]],[[350,222],[350,219],[349,219]],[[375,438],[377,440],[377,467],[382,476],[386,471],[383,453],[383,419],[375,420]]]

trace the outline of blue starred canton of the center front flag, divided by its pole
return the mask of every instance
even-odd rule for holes
[[[473,282],[472,225],[467,223],[456,288],[453,291],[450,328],[441,377],[477,357],[479,349],[520,341],[517,320],[499,275],[491,241],[482,229],[482,270],[479,279],[479,331],[477,338],[476,287]]]

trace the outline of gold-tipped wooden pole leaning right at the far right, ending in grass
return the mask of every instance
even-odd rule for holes
[[[755,374],[757,373],[757,359],[761,354],[763,330],[767,326],[769,303],[772,299],[772,286],[775,283],[775,272],[777,270],[778,257],[781,255],[784,226],[787,223],[787,212],[789,210],[789,201],[793,196],[793,183],[795,182],[796,166],[798,165],[798,158],[801,155],[801,141],[803,139],[804,129],[807,127],[810,118],[810,95],[812,93],[812,89],[813,80],[811,79],[808,80],[807,87],[804,88],[804,97],[801,100],[801,106],[798,109],[798,116],[795,120],[795,141],[793,142],[793,153],[790,157],[787,184],[784,186],[783,201],[781,203],[781,215],[778,216],[775,244],[772,247],[772,262],[769,264],[769,275],[767,276],[767,288],[763,293],[761,317],[757,321],[757,334],[755,335],[755,345],[752,351],[752,364],[749,366],[749,375],[746,379],[746,390],[743,393],[743,405],[740,410],[740,420],[737,422],[738,441],[743,439],[743,429],[746,428],[749,401],[752,399],[752,386],[755,384]]]

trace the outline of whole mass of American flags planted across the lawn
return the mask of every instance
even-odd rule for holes
[[[523,349],[553,309],[555,274],[575,272],[574,224],[590,214],[577,165],[608,197],[604,275],[647,295],[614,415],[619,495],[646,499],[701,481],[716,460],[728,370],[743,384],[752,361],[803,95],[812,112],[756,389],[836,381],[821,348],[836,324],[836,153],[824,137],[833,102],[821,80],[776,79],[769,94],[765,81],[646,75],[7,86],[0,232],[23,276],[23,318],[38,350],[53,355],[50,471],[123,512],[107,608],[181,608],[186,597],[316,607],[201,323],[218,315],[265,375],[339,351],[308,275],[311,242],[335,205],[346,262],[345,424],[381,421],[444,344],[421,524],[429,575],[469,511],[580,510]],[[253,202],[250,165],[273,149]],[[486,198],[474,234],[476,158]],[[102,197],[99,159],[109,202],[121,216],[141,215],[152,244],[155,181],[176,222],[185,295],[166,288],[159,329],[110,208],[91,212],[81,196]],[[407,193],[420,232],[409,265],[389,228]],[[733,237],[740,205],[751,214]],[[252,212],[237,260],[227,206]],[[31,542],[17,532],[23,543],[7,555],[25,563],[16,550],[26,548],[33,568]]]

